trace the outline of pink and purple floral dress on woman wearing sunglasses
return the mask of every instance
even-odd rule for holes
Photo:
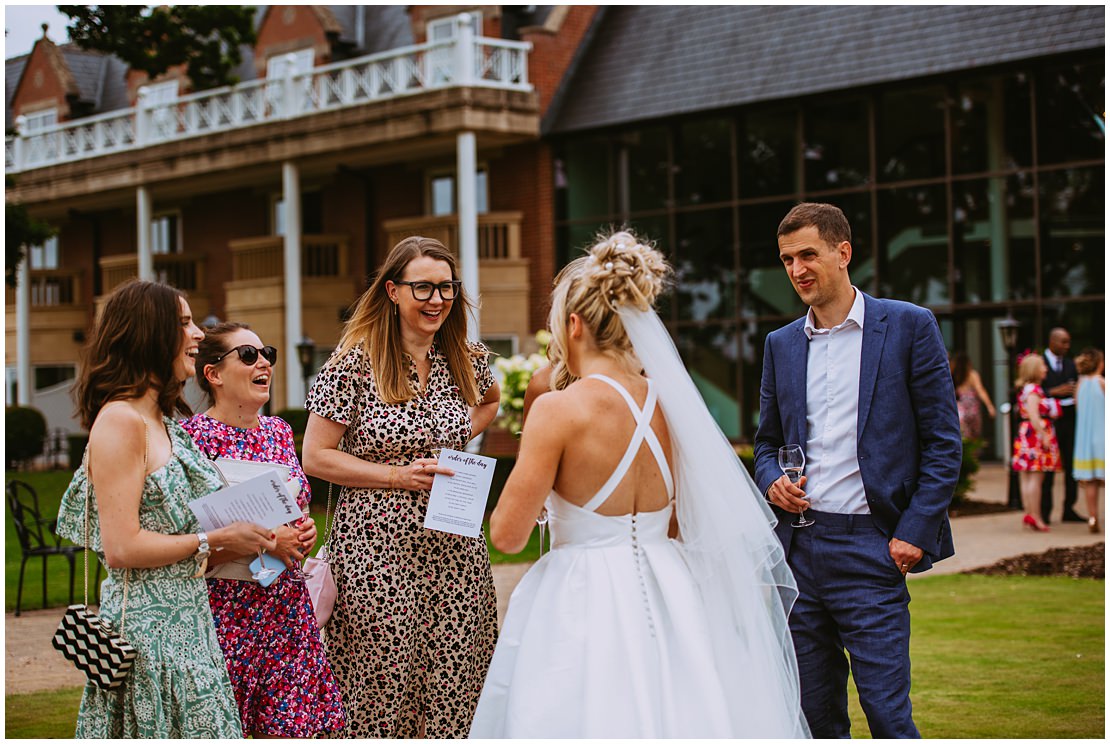
[[[256,429],[238,429],[198,414],[181,424],[209,458],[287,465],[301,482],[297,502],[307,505],[312,492],[282,419],[261,416]],[[339,685],[304,582],[285,571],[270,586],[232,579],[210,579],[208,586],[243,732],[311,738],[342,731]]]

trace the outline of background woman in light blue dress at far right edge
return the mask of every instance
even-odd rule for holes
[[[1076,456],[1072,474],[1083,486],[1087,526],[1099,531],[1099,491],[1106,480],[1106,378],[1102,352],[1084,349],[1076,358]]]

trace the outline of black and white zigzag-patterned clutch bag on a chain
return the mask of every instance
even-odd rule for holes
[[[122,685],[135,658],[134,646],[83,604],[65,610],[53,645],[101,690]]]

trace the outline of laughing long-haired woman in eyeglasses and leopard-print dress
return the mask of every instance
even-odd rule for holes
[[[466,736],[496,642],[485,540],[424,529],[432,479],[452,474],[440,450],[462,450],[501,399],[468,304],[453,253],[401,241],[305,403],[304,469],[342,486],[327,655],[354,737]]]

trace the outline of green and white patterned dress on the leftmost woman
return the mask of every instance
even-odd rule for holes
[[[162,534],[195,533],[200,526],[189,502],[219,489],[220,479],[192,438],[174,421],[163,421],[173,452],[143,483],[139,523]],[[78,544],[84,542],[87,489],[91,484],[82,464],[58,514],[58,534]],[[103,560],[95,495],[89,500],[89,543]],[[101,590],[101,615],[117,627],[125,573],[110,569]],[[158,569],[131,570],[122,634],[139,653],[122,687],[108,691],[85,684],[78,738],[242,738],[208,585],[194,573],[192,557]]]

